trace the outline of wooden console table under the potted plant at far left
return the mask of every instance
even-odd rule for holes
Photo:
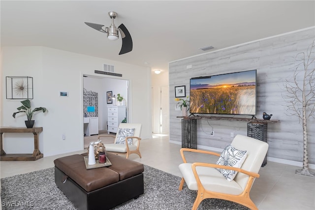
[[[1,128],[0,129],[0,154],[1,161],[34,161],[43,157],[38,148],[38,134],[43,130],[42,127],[34,128]],[[34,151],[32,154],[6,154],[2,147],[3,133],[33,133]]]

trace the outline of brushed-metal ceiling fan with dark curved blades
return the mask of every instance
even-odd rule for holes
[[[114,19],[117,16],[116,12],[108,12],[109,17],[112,19],[112,24],[110,27],[104,27],[104,25],[96,24],[96,23],[89,23],[89,22],[84,22],[88,26],[94,28],[95,30],[107,34],[107,38],[109,40],[117,40],[119,38],[118,35],[118,29],[120,31],[120,34],[122,36],[122,49],[119,52],[119,55],[128,53],[132,50],[132,39],[131,35],[129,34],[128,30],[126,29],[124,24],[121,24],[118,29],[114,24]]]

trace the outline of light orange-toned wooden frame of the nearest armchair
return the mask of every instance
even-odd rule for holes
[[[216,156],[220,157],[220,154],[216,153],[216,152],[204,151],[204,150],[198,150],[198,149],[190,149],[190,148],[182,148],[180,150],[180,152],[181,152],[181,156],[182,156],[184,163],[187,163],[186,158],[184,156],[184,151],[205,153],[205,154],[216,155]],[[198,166],[229,169],[229,170],[233,170],[233,171],[237,171],[237,172],[249,175],[249,178],[248,178],[248,181],[247,181],[247,184],[246,184],[244,191],[239,195],[231,195],[231,194],[213,192],[213,191],[206,190],[203,187],[203,185],[199,179],[199,176],[197,174],[197,171],[196,171],[196,167],[198,167]],[[192,167],[193,175],[196,178],[197,186],[198,186],[197,197],[196,197],[195,202],[193,203],[192,210],[197,210],[201,201],[203,201],[204,199],[207,199],[207,198],[217,198],[217,199],[228,200],[228,201],[232,201],[232,202],[241,204],[243,206],[246,206],[252,210],[258,210],[256,205],[252,202],[252,200],[250,198],[250,191],[251,191],[254,179],[258,178],[259,174],[252,173],[252,172],[240,169],[240,168],[221,166],[221,165],[216,165],[216,164],[208,164],[208,163],[193,163],[191,167]],[[179,190],[183,189],[184,182],[185,182],[185,179],[184,179],[184,177],[182,177],[182,180],[181,180],[181,183],[179,186]]]

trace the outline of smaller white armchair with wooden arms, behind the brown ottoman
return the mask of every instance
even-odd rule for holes
[[[129,157],[130,154],[135,153],[137,155],[139,155],[139,157],[141,158],[141,153],[139,150],[140,147],[140,134],[141,134],[141,127],[142,124],[141,123],[120,123],[119,127],[118,127],[118,131],[120,128],[122,129],[132,129],[134,128],[134,133],[133,133],[133,137],[126,137],[126,143],[125,144],[121,144],[121,143],[116,143],[119,132],[117,131],[116,133],[116,137],[112,136],[112,135],[98,135],[97,139],[101,140],[101,138],[103,137],[112,137],[115,138],[114,143],[105,143],[105,150],[108,152],[118,152],[118,153],[126,153],[126,158]],[[132,139],[132,144],[128,144],[128,139]]]

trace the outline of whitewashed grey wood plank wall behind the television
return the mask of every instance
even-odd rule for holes
[[[257,70],[257,118],[262,113],[280,120],[268,124],[268,157],[303,162],[303,132],[297,117],[287,116],[284,81],[293,75],[294,57],[305,52],[315,39],[315,28],[274,36],[223,50],[198,55],[169,64],[170,141],[181,142],[181,111],[175,110],[175,86],[186,85],[191,77]],[[192,65],[192,69],[187,69]],[[213,128],[214,136],[210,136]],[[197,145],[223,149],[234,135],[247,135],[247,122],[197,120]],[[308,121],[309,163],[315,164],[315,119]]]

